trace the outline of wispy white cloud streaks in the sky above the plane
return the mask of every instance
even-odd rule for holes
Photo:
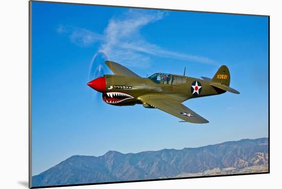
[[[94,54],[91,60],[89,77],[98,53],[104,53],[109,60],[119,62],[124,66],[138,68],[148,68],[151,56],[185,59],[202,64],[216,64],[216,61],[208,57],[165,50],[146,41],[140,34],[140,29],[163,19],[166,14],[166,11],[130,9],[125,14],[112,17],[103,35],[69,26],[59,26],[57,31],[68,33],[70,41],[81,47],[87,47],[93,43],[100,44],[98,52]]]

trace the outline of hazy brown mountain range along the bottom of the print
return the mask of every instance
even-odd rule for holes
[[[182,150],[135,154],[109,151],[98,157],[75,155],[33,176],[32,186],[172,178],[228,167],[245,169],[268,165],[268,148],[268,138],[258,138]]]

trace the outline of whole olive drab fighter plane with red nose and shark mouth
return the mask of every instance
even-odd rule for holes
[[[87,85],[102,93],[103,100],[115,106],[133,106],[143,104],[145,108],[157,108],[191,123],[208,123],[182,104],[190,98],[223,94],[226,91],[239,94],[229,87],[230,73],[221,66],[213,78],[197,79],[184,75],[155,73],[142,78],[113,61],[105,64],[115,75],[98,77]]]

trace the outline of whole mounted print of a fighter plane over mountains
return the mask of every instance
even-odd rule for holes
[[[29,6],[30,187],[269,173],[269,16]]]

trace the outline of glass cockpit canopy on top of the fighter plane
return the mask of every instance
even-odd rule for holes
[[[184,76],[175,76],[166,73],[155,73],[148,78],[155,83],[163,85],[182,85],[186,82],[186,78]]]

